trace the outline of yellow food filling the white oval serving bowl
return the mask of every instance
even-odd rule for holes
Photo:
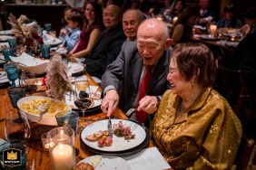
[[[49,104],[50,107],[47,110],[48,114],[46,114],[44,117],[54,118],[57,113],[68,109],[64,103],[60,101],[54,101],[53,99],[33,99],[30,102],[22,103],[20,105],[20,109],[23,109],[28,113],[39,116],[40,111],[38,107],[46,103]]]

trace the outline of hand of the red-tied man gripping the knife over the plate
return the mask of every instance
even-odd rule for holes
[[[119,95],[116,90],[108,90],[103,98],[102,110],[103,113],[107,114],[107,117],[110,117],[113,111],[116,109],[119,101]]]

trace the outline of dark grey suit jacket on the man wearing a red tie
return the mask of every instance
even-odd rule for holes
[[[169,52],[164,52],[155,65],[146,95],[161,96],[165,90],[170,88],[169,82],[166,80],[169,72],[169,58]],[[124,42],[122,51],[103,74],[103,90],[107,86],[113,85],[119,91],[119,108],[123,112],[131,108],[139,91],[142,67],[143,59],[137,50],[137,43]]]

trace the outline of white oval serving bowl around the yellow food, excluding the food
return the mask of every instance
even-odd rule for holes
[[[56,118],[55,117],[52,117],[52,118],[47,117],[47,113],[43,116],[41,121],[38,121],[39,115],[34,115],[34,114],[26,112],[24,109],[20,108],[21,104],[31,102],[31,101],[33,101],[33,99],[51,99],[51,98],[44,97],[44,96],[29,96],[29,97],[25,97],[23,99],[19,99],[18,100],[18,102],[17,102],[18,108],[20,110],[24,111],[25,114],[26,114],[26,117],[29,120],[31,120],[31,121],[38,122],[38,123],[43,124],[43,125],[57,126],[58,124],[57,124]],[[64,102],[62,102],[60,100],[57,100],[57,99],[52,99],[52,100],[64,103]],[[68,105],[66,105],[65,103],[64,103],[64,105],[67,107],[67,110],[71,110],[71,108]]]

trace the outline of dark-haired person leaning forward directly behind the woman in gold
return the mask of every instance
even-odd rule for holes
[[[172,46],[179,42],[192,42],[192,27],[199,18],[199,10],[195,6],[189,6],[172,26]]]

